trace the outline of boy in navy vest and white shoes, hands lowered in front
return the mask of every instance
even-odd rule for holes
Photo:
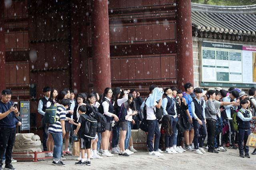
[[[191,102],[191,112],[193,115],[194,126],[194,147],[196,154],[206,153],[203,149],[204,140],[206,137],[206,119],[205,119],[205,102],[201,100],[202,89],[195,88],[194,93],[196,97]],[[199,142],[199,147],[198,147]]]

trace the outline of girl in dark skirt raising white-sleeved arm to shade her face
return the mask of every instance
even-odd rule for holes
[[[128,130],[128,122],[125,119],[126,115],[127,115],[127,110],[128,110],[128,93],[129,91],[122,91],[119,99],[117,99],[117,105],[118,105],[118,109],[117,109],[117,113],[118,113],[118,118],[120,119],[120,152],[119,155],[121,156],[130,156],[131,153],[126,152],[125,150],[125,138],[126,138],[126,132]],[[122,152],[121,152],[122,150]],[[128,154],[129,153],[129,154]]]

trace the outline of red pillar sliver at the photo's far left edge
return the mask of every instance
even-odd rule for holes
[[[4,1],[0,1],[0,92],[6,89],[5,49],[4,49]]]

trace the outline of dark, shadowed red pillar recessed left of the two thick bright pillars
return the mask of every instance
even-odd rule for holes
[[[80,28],[79,28],[79,2],[78,0],[72,0],[70,4],[71,8],[71,88],[75,90],[75,93],[81,91],[81,78],[80,78]],[[85,66],[85,65],[84,65]]]

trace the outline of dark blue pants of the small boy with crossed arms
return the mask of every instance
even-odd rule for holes
[[[249,154],[249,147],[246,146],[248,136],[250,135],[250,129],[238,128],[238,148],[239,154]]]

